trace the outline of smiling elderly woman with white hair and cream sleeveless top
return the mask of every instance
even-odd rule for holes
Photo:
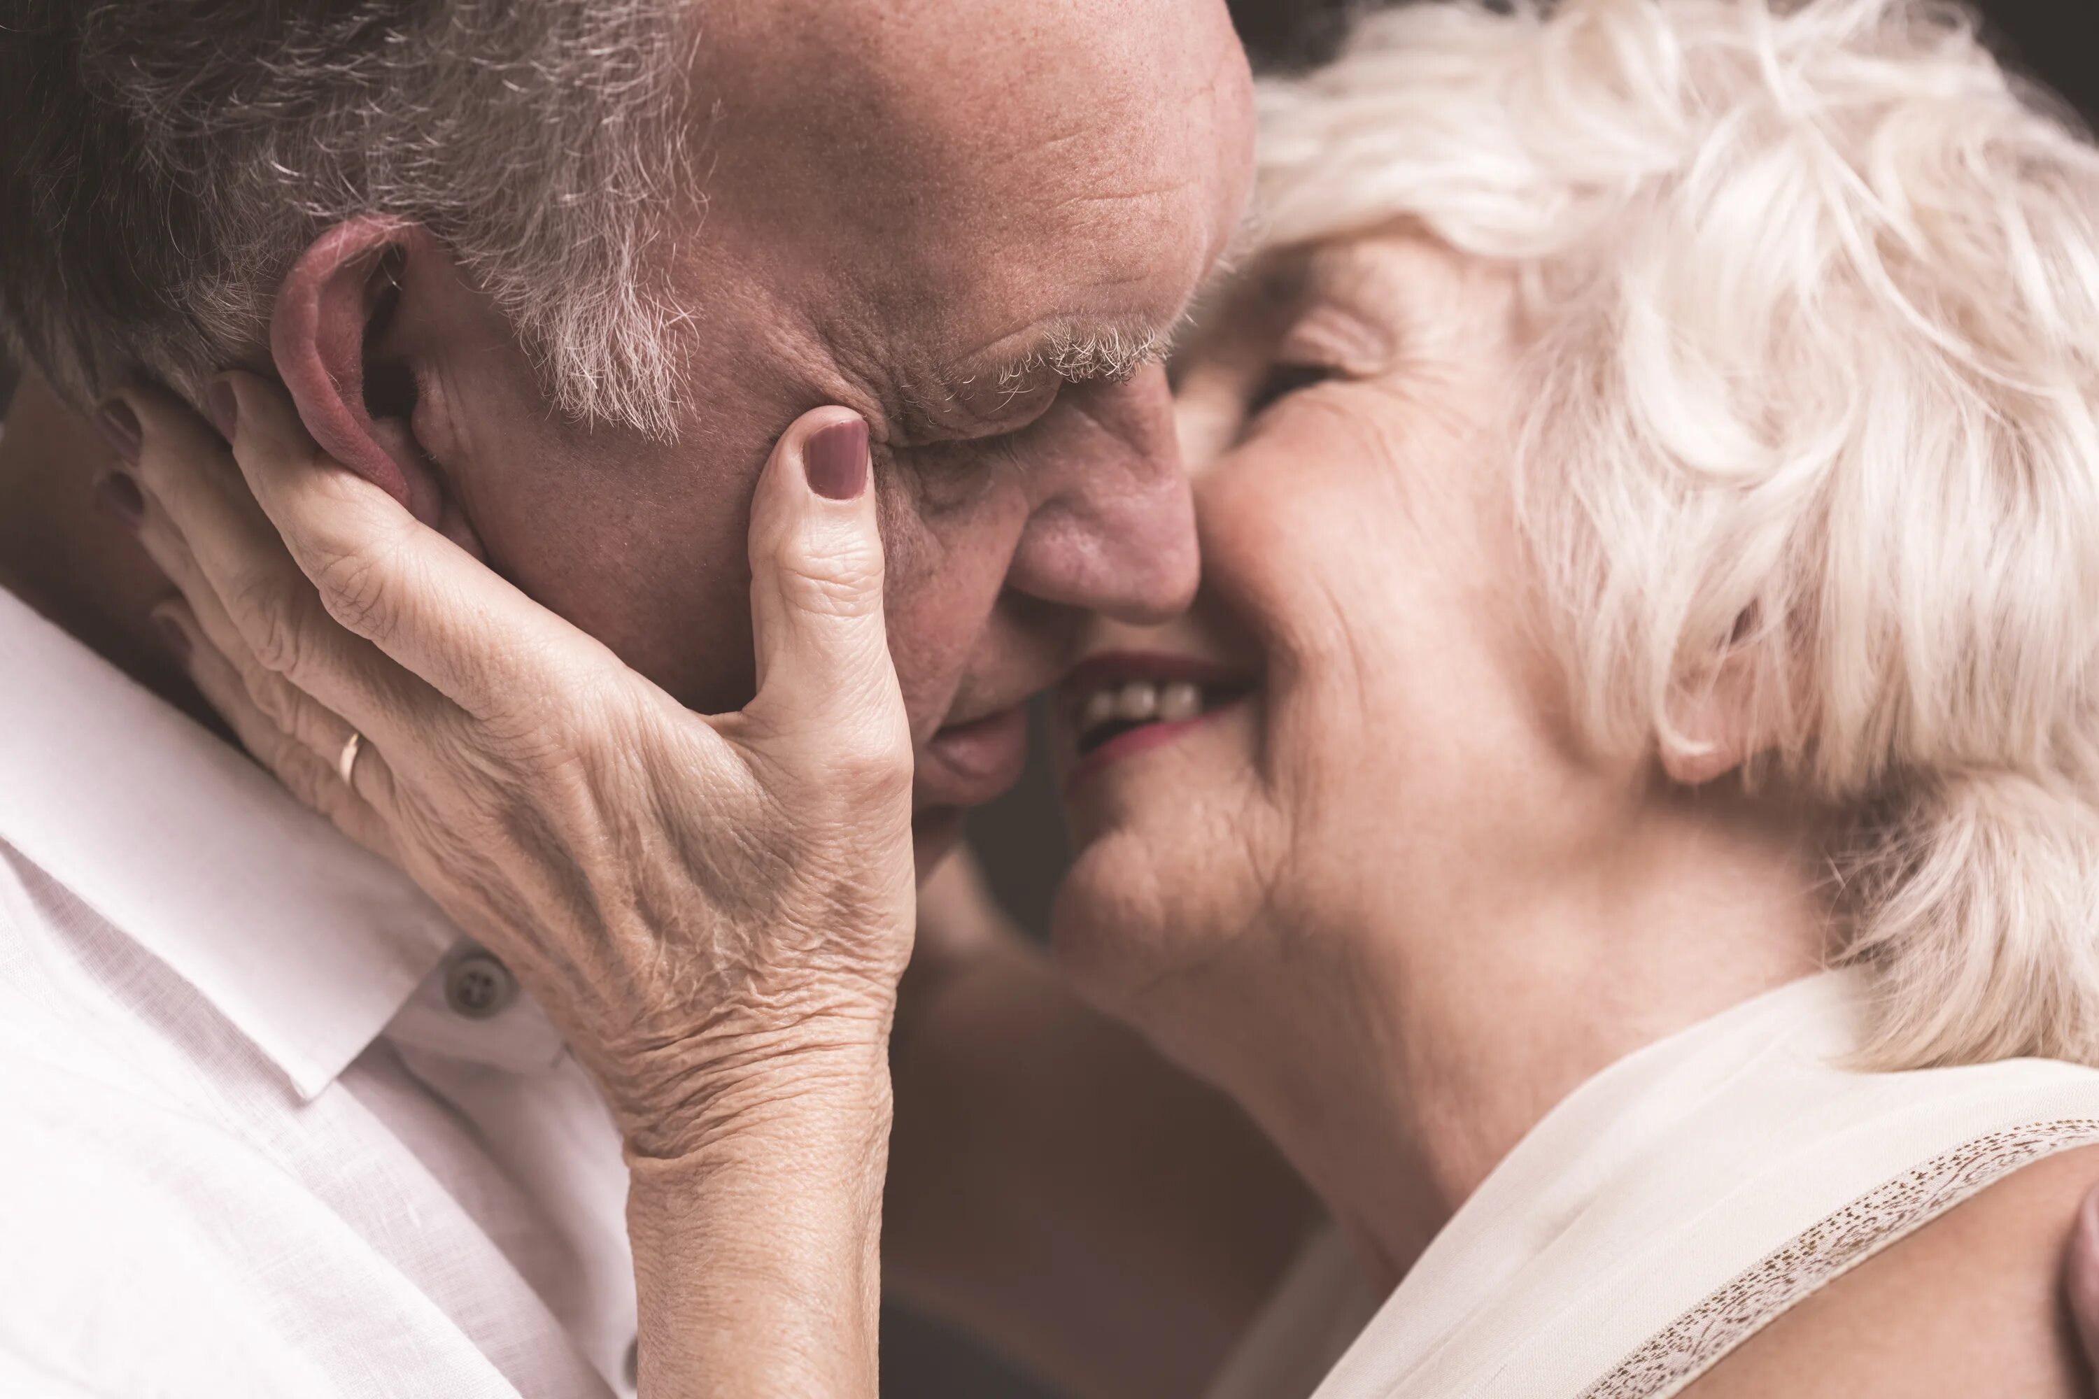
[[[1272,86],[1264,141],[1266,247],[1180,365],[1205,594],[1102,623],[1064,688],[1064,969],[1335,1225],[1213,1393],[2082,1393],[2057,1269],[2099,1179],[2099,151],[1906,0],[1398,10]],[[292,554],[372,558],[340,505],[384,503],[298,487],[296,417],[233,386]],[[155,495],[225,470],[147,459]],[[290,568],[233,535],[191,539],[254,552],[218,577]],[[160,505],[147,539],[202,688],[296,755],[218,654],[214,568]],[[357,703],[479,646],[605,709],[598,671],[531,669],[567,654],[548,619],[472,587],[502,636],[403,610],[386,661],[306,608],[288,654]],[[539,860],[539,906],[443,868],[432,814],[539,791],[491,776],[500,742],[382,751],[330,810],[556,1009],[602,1000],[626,952],[577,910],[663,887],[649,822],[705,799],[567,866],[531,841],[565,849],[573,801],[476,824],[518,841],[491,864]],[[634,965],[718,992],[737,950],[665,927]],[[810,956],[879,1021],[894,948],[842,940]],[[563,1019],[600,1066],[712,1024]],[[699,1135],[835,1143],[852,1112],[695,1097]],[[852,1273],[873,1206],[833,1160],[775,1246]],[[644,1271],[703,1267],[672,1233],[636,1221]]]

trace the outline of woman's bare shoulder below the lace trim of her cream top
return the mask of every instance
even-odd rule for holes
[[[2023,1166],[1790,1307],[1685,1399],[2091,1395],[2063,1263],[2099,1145]]]

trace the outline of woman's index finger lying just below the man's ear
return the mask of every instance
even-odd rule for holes
[[[279,386],[252,373],[218,384],[233,394],[233,459],[338,623],[481,717],[544,694],[550,657],[617,665],[596,640],[332,461]]]

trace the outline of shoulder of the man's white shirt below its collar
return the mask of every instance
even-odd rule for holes
[[[0,1393],[512,1395],[403,1263],[472,1223],[136,959],[0,887]]]

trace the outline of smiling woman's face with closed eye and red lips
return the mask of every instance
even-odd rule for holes
[[[1100,625],[1060,705],[1056,942],[1104,1007],[1215,1015],[1220,973],[1362,929],[1436,956],[1511,868],[1583,858],[1602,774],[1530,625],[1515,336],[1499,271],[1385,233],[1272,260],[1182,361],[1203,596]]]

